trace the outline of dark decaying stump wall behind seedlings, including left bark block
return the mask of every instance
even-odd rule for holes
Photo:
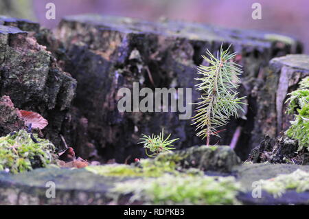
[[[246,159],[264,135],[275,137],[279,132],[284,114],[277,108],[284,97],[276,93],[284,96],[285,91],[276,91],[286,89],[279,77],[289,77],[289,71],[273,69],[268,61],[301,52],[301,44],[288,36],[88,15],[62,19],[54,36],[37,23],[2,16],[0,95],[9,95],[18,108],[43,115],[49,121],[45,137],[63,149],[61,134],[85,159],[98,158],[98,154],[105,161],[115,158],[118,162],[130,154],[144,157],[137,146],[141,133],[158,133],[161,128],[180,138],[176,148],[201,145],[205,142],[195,137],[192,122],[179,120],[180,113],[119,113],[117,91],[121,87],[132,90],[133,82],[152,90],[192,88],[196,102],[200,95],[194,90],[196,66],[207,65],[201,55],[206,48],[215,54],[222,42],[223,47],[233,44],[231,50],[239,52],[237,61],[244,68],[239,91],[249,105],[239,119],[222,127],[226,131],[220,132],[219,143],[231,143],[236,128],[241,127],[235,150]],[[70,111],[76,81],[60,67],[78,81]],[[214,138],[211,144],[218,141]]]

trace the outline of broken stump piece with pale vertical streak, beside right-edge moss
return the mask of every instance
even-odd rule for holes
[[[264,119],[268,117],[268,123],[264,126],[261,124],[261,127],[268,137],[251,151],[249,161],[308,164],[307,148],[296,153],[297,141],[285,137],[284,131],[290,127],[290,121],[294,119],[293,115],[286,113],[287,94],[297,89],[301,78],[309,76],[309,56],[288,55],[273,58],[270,62],[269,75],[276,78],[271,81],[271,87],[276,92],[272,95],[272,101],[264,104],[265,112],[268,111]]]

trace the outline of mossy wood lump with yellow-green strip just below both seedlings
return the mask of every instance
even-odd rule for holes
[[[203,174],[205,170],[220,172],[231,169],[238,163],[240,160],[229,147],[200,146],[175,152],[162,152],[155,159],[141,159],[139,163],[132,165],[98,165],[86,169],[102,176],[158,177],[165,173],[195,175]]]

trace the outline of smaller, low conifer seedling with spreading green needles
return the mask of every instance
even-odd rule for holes
[[[171,135],[171,134],[170,134]],[[144,135],[142,134],[143,137],[140,138],[140,140],[143,140],[139,143],[144,144],[145,152],[148,157],[156,157],[157,154],[160,152],[165,152],[165,151],[170,151],[174,150],[174,146],[172,143],[178,139],[170,139],[170,135],[166,139],[164,139],[164,129],[162,128],[162,132],[159,135]],[[147,150],[150,150],[152,154],[148,154]]]

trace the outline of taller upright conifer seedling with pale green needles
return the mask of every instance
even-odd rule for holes
[[[209,146],[211,135],[218,135],[217,129],[225,126],[229,117],[238,117],[238,110],[242,110],[240,104],[244,104],[238,97],[237,89],[240,79],[238,76],[242,73],[240,65],[233,62],[236,53],[230,54],[229,48],[226,50],[220,48],[215,57],[207,49],[207,56],[202,56],[209,66],[198,66],[198,74],[201,78],[195,78],[199,84],[196,90],[201,91],[199,98],[201,101],[196,103],[196,115],[192,117],[193,125],[196,130],[200,130],[196,135],[198,137],[207,137],[206,144]]]

